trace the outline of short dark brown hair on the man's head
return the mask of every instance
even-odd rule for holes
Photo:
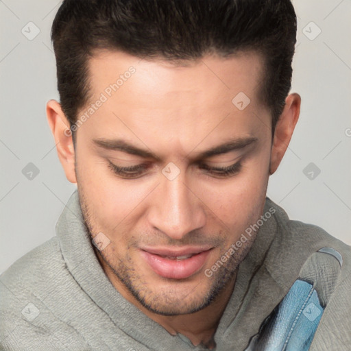
[[[90,99],[95,50],[182,62],[255,50],[272,130],[291,88],[296,15],[290,0],[64,0],[51,29],[62,110],[71,125]]]

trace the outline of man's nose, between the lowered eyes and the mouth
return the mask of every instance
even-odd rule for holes
[[[196,195],[196,189],[192,189],[193,182],[187,184],[185,180],[184,172],[173,180],[161,174],[149,210],[151,226],[175,240],[182,239],[206,223],[204,206]]]

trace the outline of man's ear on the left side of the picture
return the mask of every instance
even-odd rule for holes
[[[58,101],[50,100],[47,103],[47,121],[53,138],[55,138],[58,158],[71,183],[76,183],[75,178],[75,150],[73,147],[72,132],[69,129],[69,121],[62,112]]]

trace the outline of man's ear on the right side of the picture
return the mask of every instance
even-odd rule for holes
[[[280,115],[274,131],[273,145],[271,147],[271,163],[269,174],[273,174],[280,162],[287,147],[290,143],[293,130],[298,123],[300,115],[301,97],[298,94],[290,94],[285,99],[285,108]]]

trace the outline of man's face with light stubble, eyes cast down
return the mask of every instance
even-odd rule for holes
[[[271,115],[258,99],[261,58],[175,66],[106,52],[89,70],[91,103],[103,102],[77,130],[75,172],[92,237],[110,241],[99,254],[119,291],[150,311],[204,308],[233,281],[254,233],[211,267],[263,214]],[[122,141],[145,154],[119,149]],[[230,142],[229,151],[204,155]],[[117,173],[123,167],[133,168]],[[224,167],[232,173],[217,170]]]

